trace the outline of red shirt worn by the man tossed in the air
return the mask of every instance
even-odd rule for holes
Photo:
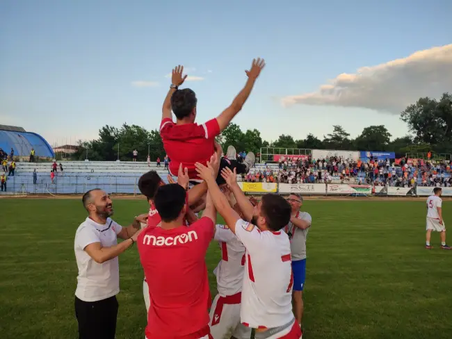
[[[161,121],[160,135],[170,162],[170,173],[177,176],[180,163],[188,168],[190,179],[200,179],[195,170],[195,163],[206,165],[215,152],[213,142],[220,134],[217,119],[205,124],[177,125],[172,119]]]

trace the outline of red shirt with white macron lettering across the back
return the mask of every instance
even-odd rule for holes
[[[152,227],[138,235],[141,265],[149,286],[147,338],[202,338],[209,334],[211,296],[205,256],[213,222],[202,217],[190,227]],[[159,279],[152,279],[158,276]]]

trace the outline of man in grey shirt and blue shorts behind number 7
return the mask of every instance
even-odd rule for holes
[[[292,272],[293,272],[293,313],[301,326],[303,316],[302,292],[306,278],[306,237],[311,227],[312,217],[307,212],[301,212],[303,198],[291,194],[287,198],[291,206],[291,220],[284,228],[291,241]]]

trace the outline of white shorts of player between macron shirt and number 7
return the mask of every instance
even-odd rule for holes
[[[251,329],[240,322],[241,304],[223,304],[221,313],[216,314],[218,299],[220,299],[220,295],[216,295],[213,299],[209,314],[210,333],[213,339],[231,338],[231,336],[237,339],[250,339]],[[213,317],[216,319],[213,319]]]

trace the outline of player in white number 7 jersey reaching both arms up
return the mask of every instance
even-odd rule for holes
[[[236,174],[223,169],[222,176],[234,193],[245,219],[229,206],[218,187],[214,171],[197,163],[209,196],[229,229],[245,246],[245,274],[241,294],[241,322],[255,328],[255,339],[299,339],[300,325],[292,312],[291,249],[281,229],[289,223],[291,206],[283,197],[264,195],[253,207],[236,183]]]

